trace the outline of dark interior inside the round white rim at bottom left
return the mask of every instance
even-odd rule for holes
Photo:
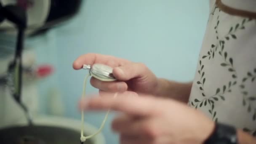
[[[0,130],[0,144],[80,144],[80,132],[53,126],[19,126]],[[88,139],[84,144],[93,144]]]

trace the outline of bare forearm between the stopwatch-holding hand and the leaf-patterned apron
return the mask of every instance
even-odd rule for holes
[[[179,83],[158,78],[155,95],[176,99],[187,103],[192,88],[192,82]]]

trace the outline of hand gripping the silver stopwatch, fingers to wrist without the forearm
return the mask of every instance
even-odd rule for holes
[[[106,64],[113,68],[113,75],[117,79],[114,82],[103,82],[91,78],[91,85],[104,92],[126,92],[156,94],[158,88],[157,77],[142,63],[136,63],[114,56],[88,53],[78,57],[74,63],[74,69],[81,69],[83,64]]]

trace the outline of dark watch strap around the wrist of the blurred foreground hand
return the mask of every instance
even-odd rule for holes
[[[211,136],[204,144],[238,144],[236,128],[221,123],[216,123]]]

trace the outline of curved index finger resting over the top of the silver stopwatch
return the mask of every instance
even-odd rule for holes
[[[114,56],[103,55],[98,53],[87,53],[82,56],[79,56],[73,63],[74,69],[81,69],[83,64],[106,64],[110,67],[122,66],[125,63],[128,63],[128,60],[116,58]]]

